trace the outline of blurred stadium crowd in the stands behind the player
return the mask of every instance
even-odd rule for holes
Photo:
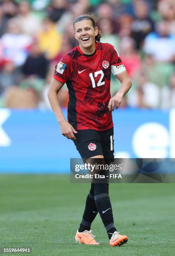
[[[77,45],[74,19],[89,12],[132,78],[121,108],[175,107],[175,0],[1,0],[0,107],[50,108],[55,65]],[[112,96],[118,88],[112,77]],[[66,84],[58,95],[66,107]]]

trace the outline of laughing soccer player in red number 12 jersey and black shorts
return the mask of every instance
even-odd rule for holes
[[[79,46],[65,54],[56,66],[48,99],[61,128],[72,139],[85,161],[91,158],[114,158],[112,111],[119,108],[132,83],[127,71],[111,44],[100,43],[101,34],[93,15],[81,15],[74,20],[74,34]],[[111,98],[111,72],[121,87]],[[58,102],[58,92],[66,82],[69,92],[68,122]],[[84,215],[76,232],[76,242],[99,245],[90,230],[99,212],[109,236],[110,246],[126,243],[127,236],[119,235],[113,220],[108,183],[91,183]]]

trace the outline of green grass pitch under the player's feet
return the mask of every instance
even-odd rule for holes
[[[175,184],[110,184],[117,230],[129,237],[120,247],[109,246],[99,215],[91,229],[101,244],[75,243],[89,187],[68,175],[0,175],[0,247],[39,256],[175,255]]]

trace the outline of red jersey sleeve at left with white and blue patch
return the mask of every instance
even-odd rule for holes
[[[64,84],[70,78],[70,74],[71,74],[71,59],[67,54],[65,54],[56,65],[53,78],[55,78],[56,80]]]

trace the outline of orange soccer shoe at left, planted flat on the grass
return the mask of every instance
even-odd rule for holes
[[[79,232],[77,230],[75,235],[76,243],[84,243],[84,244],[94,244],[99,245],[94,239],[94,235],[92,235],[92,230],[84,230],[83,232]]]

